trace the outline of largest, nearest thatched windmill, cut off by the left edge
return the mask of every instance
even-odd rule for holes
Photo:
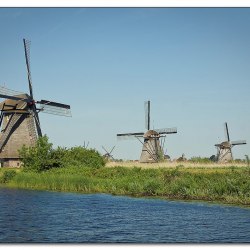
[[[18,150],[23,146],[33,146],[42,136],[39,112],[71,116],[70,106],[62,103],[40,100],[33,96],[30,72],[30,42],[23,39],[28,74],[29,94],[0,87],[0,161],[2,166],[18,167]]]

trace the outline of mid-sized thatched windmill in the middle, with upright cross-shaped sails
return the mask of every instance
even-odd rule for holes
[[[117,134],[117,138],[137,138],[143,145],[140,162],[158,162],[163,157],[166,134],[177,133],[176,128],[150,129],[150,101],[145,102],[145,127],[147,131],[139,133]],[[143,139],[143,141],[142,141]]]

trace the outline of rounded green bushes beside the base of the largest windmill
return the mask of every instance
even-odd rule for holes
[[[33,147],[23,146],[19,151],[24,171],[42,172],[51,168],[87,166],[100,168],[105,165],[103,157],[94,149],[57,147],[53,149],[48,137],[39,137]]]

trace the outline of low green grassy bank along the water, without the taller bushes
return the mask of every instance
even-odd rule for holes
[[[0,181],[15,188],[250,205],[250,171],[246,167],[67,167],[16,174],[6,171],[11,170],[1,170]]]

